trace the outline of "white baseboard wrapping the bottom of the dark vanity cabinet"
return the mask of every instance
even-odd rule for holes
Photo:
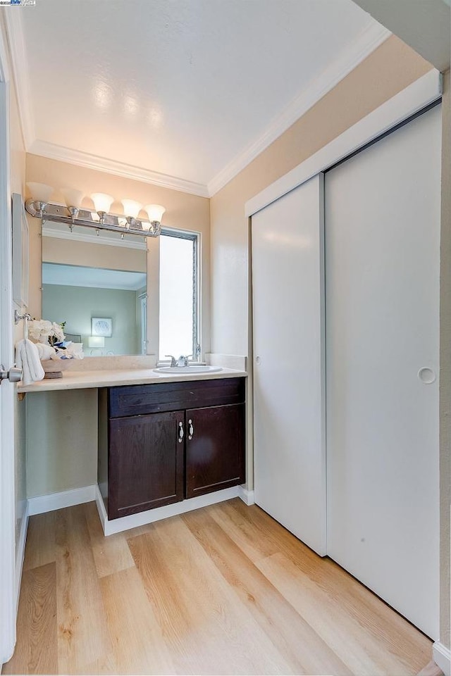
[[[121,518],[109,521],[108,516],[106,515],[104,499],[101,496],[99,487],[96,486],[97,510],[99,511],[99,517],[105,535],[121,533],[124,530],[129,530],[130,528],[144,526],[148,523],[160,521],[161,519],[167,519],[170,516],[184,514],[185,512],[190,512],[193,509],[215,505],[218,502],[231,500],[232,498],[237,498],[238,496],[240,496],[240,486],[233,486],[232,488],[226,488],[222,491],[216,491],[206,495],[199,495],[197,498],[190,498],[189,500],[175,502],[173,505],[156,507],[155,509],[149,509],[145,512],[132,514],[130,516],[123,516]]]

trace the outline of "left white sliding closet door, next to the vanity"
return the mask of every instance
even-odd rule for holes
[[[326,553],[323,175],[252,216],[255,501]]]

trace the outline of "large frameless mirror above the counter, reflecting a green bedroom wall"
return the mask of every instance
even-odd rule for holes
[[[146,240],[44,223],[42,317],[66,322],[85,356],[146,354]]]

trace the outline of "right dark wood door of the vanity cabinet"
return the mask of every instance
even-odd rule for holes
[[[245,404],[186,411],[186,497],[245,481]]]

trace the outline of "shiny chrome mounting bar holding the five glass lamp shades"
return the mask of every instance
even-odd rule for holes
[[[155,229],[152,228],[152,223],[147,220],[135,220],[134,223],[127,224],[127,226],[120,225],[119,219],[124,220],[123,215],[106,213],[104,217],[99,220],[94,220],[99,216],[95,211],[89,209],[79,209],[78,214],[74,218],[73,214],[67,206],[61,204],[52,204],[48,202],[42,211],[39,210],[39,204],[33,199],[28,199],[25,202],[25,209],[30,215],[35,218],[42,218],[43,220],[54,221],[54,223],[63,223],[68,227],[80,225],[82,227],[92,227],[94,230],[110,230],[111,232],[119,232],[120,234],[138,234],[142,237],[156,237]],[[94,218],[93,218],[94,215]],[[145,230],[141,223],[149,223],[149,230]],[[159,232],[158,232],[159,234]]]

